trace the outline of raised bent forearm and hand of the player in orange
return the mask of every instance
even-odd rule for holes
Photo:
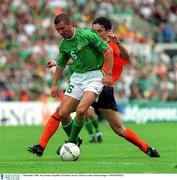
[[[128,51],[126,50],[126,48],[120,43],[119,39],[117,38],[117,36],[113,33],[110,32],[109,33],[109,39],[113,42],[116,43],[116,45],[118,46],[119,50],[120,50],[120,57],[122,59],[125,59],[127,61],[130,61],[130,55],[128,53]]]

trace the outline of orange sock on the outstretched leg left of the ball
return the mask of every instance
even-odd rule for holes
[[[58,129],[58,126],[60,124],[60,116],[58,113],[54,113],[50,119],[48,120],[47,124],[44,127],[41,139],[39,144],[45,148],[49,139],[52,137],[52,135],[55,133],[55,131]]]

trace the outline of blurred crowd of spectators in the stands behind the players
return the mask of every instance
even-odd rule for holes
[[[54,69],[45,65],[58,54],[61,12],[82,28],[112,20],[132,59],[115,86],[119,102],[177,100],[177,0],[0,0],[0,101],[50,99]],[[173,45],[173,56],[159,44]],[[59,98],[67,82],[64,74]]]

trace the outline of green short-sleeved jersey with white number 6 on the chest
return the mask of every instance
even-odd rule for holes
[[[84,73],[102,69],[103,51],[108,43],[91,30],[75,29],[71,39],[64,39],[60,44],[57,66],[65,68],[69,58],[73,60],[73,71]]]

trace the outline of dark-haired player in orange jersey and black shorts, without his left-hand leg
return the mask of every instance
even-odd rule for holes
[[[99,17],[94,20],[92,27],[99,36],[109,43],[114,53],[112,83],[115,84],[119,79],[124,66],[130,61],[126,49],[121,45],[116,35],[111,32],[112,24],[105,17]],[[107,65],[104,63],[103,70],[106,71]],[[107,119],[113,131],[119,136],[125,138],[130,143],[139,147],[141,151],[150,157],[160,157],[159,153],[146,142],[141,140],[130,128],[126,128],[117,112],[114,98],[113,87],[103,87],[98,102],[93,104],[94,108],[99,109],[100,113]]]

